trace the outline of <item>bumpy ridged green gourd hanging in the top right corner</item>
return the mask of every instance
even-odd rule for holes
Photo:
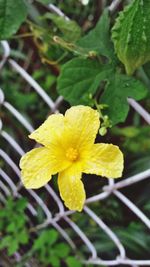
[[[120,12],[112,40],[127,74],[150,60],[150,0],[133,0]]]

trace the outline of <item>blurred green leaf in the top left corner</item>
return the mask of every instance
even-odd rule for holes
[[[24,0],[0,0],[0,40],[17,32],[27,16]]]

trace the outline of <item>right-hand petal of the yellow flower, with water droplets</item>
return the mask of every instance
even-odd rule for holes
[[[122,176],[123,154],[118,146],[112,144],[94,144],[90,158],[83,172],[118,178]]]

